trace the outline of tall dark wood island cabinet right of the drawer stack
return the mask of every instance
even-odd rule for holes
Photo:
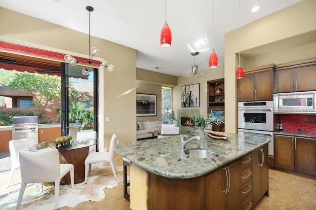
[[[268,144],[252,151],[252,205],[269,195]]]

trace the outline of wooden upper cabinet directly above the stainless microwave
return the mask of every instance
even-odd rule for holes
[[[276,93],[316,90],[315,59],[300,62],[301,64],[293,62],[276,66]]]

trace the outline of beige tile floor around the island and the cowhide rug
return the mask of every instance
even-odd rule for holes
[[[117,166],[122,166],[121,156],[115,154]],[[0,199],[20,184],[6,188],[9,171],[0,171]],[[12,183],[18,183],[19,173],[16,171]],[[4,184],[3,184],[4,182]],[[123,183],[117,187],[105,189],[106,197],[100,202],[82,202],[75,208],[63,207],[60,210],[129,210],[129,203],[123,198]],[[316,209],[316,177],[286,173],[269,169],[269,197],[264,196],[254,210],[315,210]]]

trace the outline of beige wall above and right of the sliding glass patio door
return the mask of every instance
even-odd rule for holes
[[[0,40],[88,58],[88,35],[0,7]],[[91,36],[98,58],[115,66],[100,73],[99,134],[107,149],[113,134],[121,143],[136,141],[136,50]],[[103,68],[102,68],[103,69]],[[100,69],[101,70],[101,69]],[[110,121],[105,122],[105,116]],[[119,125],[119,126],[118,126]]]

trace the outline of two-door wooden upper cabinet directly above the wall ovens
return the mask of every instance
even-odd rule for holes
[[[237,79],[238,102],[273,101],[274,64],[244,70]]]

